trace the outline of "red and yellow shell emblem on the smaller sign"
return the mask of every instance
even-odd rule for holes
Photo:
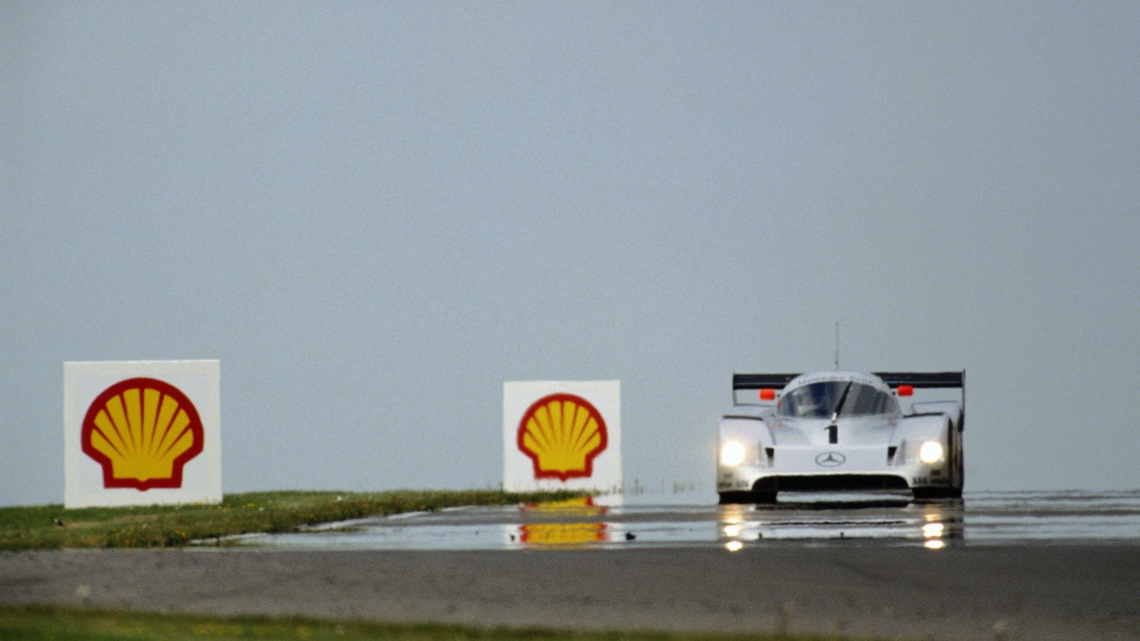
[[[602,414],[580,396],[543,397],[519,422],[519,449],[534,461],[536,479],[589,477],[605,444]]]

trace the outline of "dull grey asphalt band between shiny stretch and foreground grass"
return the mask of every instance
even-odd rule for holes
[[[1138,639],[1140,546],[0,554],[0,602],[478,626]]]

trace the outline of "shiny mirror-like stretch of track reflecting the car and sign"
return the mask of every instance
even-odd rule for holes
[[[606,501],[611,504],[601,504]],[[781,494],[774,505],[621,501],[456,508],[236,537],[275,550],[535,550],[744,546],[876,541],[940,549],[1019,541],[1140,542],[1140,492],[979,492],[961,501],[909,494]]]

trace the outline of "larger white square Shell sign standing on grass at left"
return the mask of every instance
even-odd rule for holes
[[[67,508],[221,502],[217,360],[64,364]]]

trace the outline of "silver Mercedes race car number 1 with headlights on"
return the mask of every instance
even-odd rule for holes
[[[966,372],[735,374],[720,419],[720,503],[771,503],[781,490],[911,490],[962,496]],[[915,389],[955,400],[910,404]],[[741,391],[751,399],[741,400]],[[913,400],[913,398],[912,398]]]

